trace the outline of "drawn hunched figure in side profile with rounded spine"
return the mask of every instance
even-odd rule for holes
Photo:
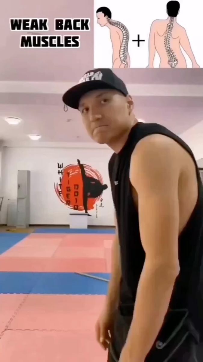
[[[107,26],[113,47],[112,68],[130,68],[128,53],[129,31],[120,21],[112,20],[109,8],[101,7],[96,11],[97,22]]]

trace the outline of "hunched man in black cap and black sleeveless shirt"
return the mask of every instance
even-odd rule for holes
[[[100,80],[89,80],[100,71]],[[96,338],[109,362],[200,362],[203,185],[190,148],[140,123],[125,84],[92,70],[63,96],[109,161],[116,236]]]

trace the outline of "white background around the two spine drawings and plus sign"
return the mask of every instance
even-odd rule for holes
[[[146,68],[148,66],[148,38],[150,27],[156,19],[167,19],[165,0],[94,0],[94,67],[112,68],[112,43],[109,29],[97,24],[96,10],[100,7],[107,7],[111,10],[112,19],[121,21],[129,30],[130,39],[128,51],[130,55],[130,68]],[[180,13],[177,22],[187,32],[191,49],[196,62],[203,68],[203,1],[202,0],[179,0]],[[140,39],[145,39],[137,46],[138,34]],[[187,67],[192,68],[188,55],[181,48],[185,56]],[[154,67],[158,68],[160,63],[159,55],[155,54]]]

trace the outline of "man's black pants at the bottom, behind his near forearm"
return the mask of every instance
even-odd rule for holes
[[[173,317],[169,317],[170,321]],[[177,319],[177,317],[176,317]],[[132,317],[121,315],[117,311],[115,316],[112,341],[109,346],[108,362],[118,362],[122,348],[124,347]],[[169,324],[168,324],[169,325]],[[168,328],[168,331],[167,331]],[[157,345],[157,340],[148,353],[145,362],[202,362],[203,344],[200,345],[194,333],[187,324],[180,324],[174,333],[171,328],[163,329],[158,337],[162,345]],[[167,331],[167,332],[166,332]]]

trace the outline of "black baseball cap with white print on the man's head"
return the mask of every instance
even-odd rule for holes
[[[77,85],[64,93],[62,100],[67,106],[78,109],[80,98],[96,89],[115,89],[128,96],[124,82],[111,69],[98,68],[86,72]]]

